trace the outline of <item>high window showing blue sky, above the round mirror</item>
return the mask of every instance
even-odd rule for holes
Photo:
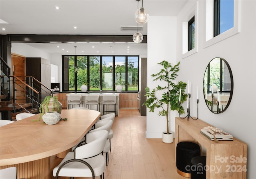
[[[214,0],[214,37],[234,27],[234,0]]]

